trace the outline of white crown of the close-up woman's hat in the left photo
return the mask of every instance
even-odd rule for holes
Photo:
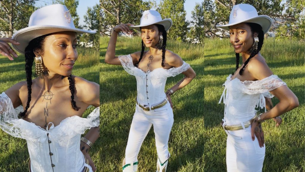
[[[73,19],[66,6],[54,4],[42,7],[30,16],[30,26],[53,25],[75,29]]]

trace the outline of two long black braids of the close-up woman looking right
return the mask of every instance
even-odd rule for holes
[[[30,107],[30,101],[31,101],[31,94],[32,94],[32,66],[34,62],[34,50],[43,50],[44,49],[44,42],[45,38],[49,36],[50,34],[39,36],[35,39],[32,39],[29,43],[29,45],[25,48],[25,73],[27,78],[27,105],[25,107],[25,110],[23,112],[19,113],[19,116],[21,118],[27,118],[27,110]],[[71,91],[71,104],[72,108],[74,110],[79,110],[80,108],[76,106],[76,103],[74,101],[74,80],[72,79],[71,75],[68,77],[69,80],[69,89]]]

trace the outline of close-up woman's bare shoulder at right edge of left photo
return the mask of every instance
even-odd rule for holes
[[[81,101],[88,103],[93,99],[99,99],[99,84],[77,76],[72,76],[72,78],[75,81],[77,97]]]

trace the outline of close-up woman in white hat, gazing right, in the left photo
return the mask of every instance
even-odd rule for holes
[[[2,54],[16,57],[10,42],[25,55],[27,80],[0,94],[0,127],[27,140],[32,172],[96,169],[88,150],[99,137],[99,108],[81,117],[88,106],[99,107],[99,85],[71,75],[80,33],[95,31],[76,29],[66,6],[56,4],[34,11],[29,27],[13,39],[1,39]],[[14,110],[20,105],[22,119]],[[90,130],[81,138],[86,129]]]

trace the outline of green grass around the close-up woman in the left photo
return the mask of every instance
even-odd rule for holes
[[[72,74],[99,83],[98,52],[82,47],[77,48],[77,50],[78,59]],[[14,61],[10,61],[7,57],[0,55],[0,93],[26,78],[24,55],[18,54],[18,56]],[[93,107],[87,109],[83,116],[86,117],[93,109]],[[90,150],[91,158],[96,163],[101,159],[98,151],[101,142],[101,139],[97,140],[96,146]],[[0,145],[0,171],[28,171],[29,154],[26,140],[10,136],[0,129]]]

